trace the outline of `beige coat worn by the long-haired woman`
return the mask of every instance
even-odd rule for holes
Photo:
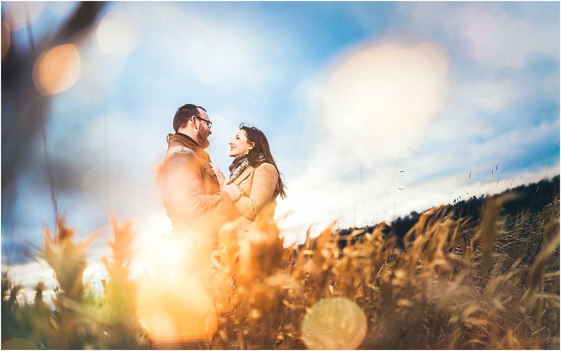
[[[277,169],[272,164],[262,163],[257,168],[250,166],[233,183],[245,192],[234,204],[243,216],[244,224],[273,218],[279,189]]]

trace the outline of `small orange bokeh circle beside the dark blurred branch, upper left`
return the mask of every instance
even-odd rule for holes
[[[72,44],[62,44],[41,54],[33,66],[33,82],[42,95],[62,93],[78,79],[80,54]]]

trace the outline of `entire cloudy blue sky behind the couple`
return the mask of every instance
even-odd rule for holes
[[[15,4],[2,2],[8,25]],[[76,4],[27,6],[39,40]],[[139,250],[169,232],[156,171],[185,103],[208,110],[224,172],[238,124],[268,136],[287,243],[559,174],[558,2],[109,2],[76,47],[80,75],[52,96],[46,133],[80,235],[108,238],[108,203]],[[11,49],[29,50],[25,28]],[[54,223],[34,143],[2,203],[2,270],[21,281],[41,267],[22,248]],[[93,244],[91,276],[104,250]]]

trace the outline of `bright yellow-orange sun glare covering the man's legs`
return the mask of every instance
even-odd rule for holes
[[[188,235],[165,236],[152,251],[153,274],[139,280],[138,290],[137,310],[146,331],[168,347],[206,338],[216,324],[209,252]]]

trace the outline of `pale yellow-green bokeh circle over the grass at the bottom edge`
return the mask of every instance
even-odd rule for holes
[[[343,297],[316,302],[302,320],[302,340],[309,349],[356,349],[366,336],[366,316]]]

